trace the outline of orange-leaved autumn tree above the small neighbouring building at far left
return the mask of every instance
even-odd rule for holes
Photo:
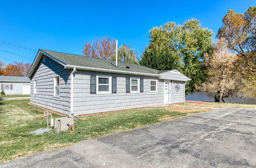
[[[0,66],[3,64],[1,64]],[[29,68],[31,67],[30,63],[17,63],[14,64],[8,64],[5,66],[5,68],[1,67],[0,75],[3,76],[27,76],[27,73],[29,71]]]

